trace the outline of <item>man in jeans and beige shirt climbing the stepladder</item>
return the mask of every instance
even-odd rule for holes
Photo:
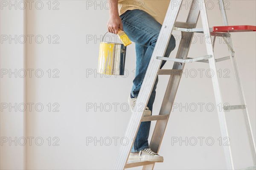
[[[118,30],[121,29],[125,31],[131,41],[135,42],[136,74],[128,99],[133,111],[170,0],[109,0],[109,2],[111,8],[109,10],[108,31],[117,34]],[[171,36],[164,57],[169,57],[174,48],[175,38]],[[165,62],[162,62],[160,68]],[[158,77],[143,116],[151,115],[157,82]],[[149,149],[150,124],[151,122],[141,122],[129,156],[130,160],[163,161],[163,156],[159,156]]]

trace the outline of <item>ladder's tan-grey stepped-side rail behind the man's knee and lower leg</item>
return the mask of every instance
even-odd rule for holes
[[[200,14],[200,8],[196,4],[196,0],[193,0],[186,22],[194,23],[194,27],[196,27],[199,14]],[[181,38],[181,42],[180,42],[180,45],[179,45],[179,48],[177,51],[176,58],[184,59],[187,57],[187,55],[189,53],[189,48],[191,45],[190,42],[192,40],[193,35],[194,35],[194,32],[182,32],[182,38]],[[180,62],[174,62],[173,69],[179,69],[179,70],[183,71],[184,66],[185,66],[185,63],[183,64]],[[180,75],[173,75],[169,78],[169,82],[168,82],[168,85],[166,88],[166,93],[164,95],[159,114],[170,114],[171,113],[172,104],[175,100],[175,96],[177,93],[177,88],[178,88],[178,85],[180,82],[180,78],[181,78],[180,76],[182,74],[182,71],[181,71]],[[151,150],[153,150],[156,153],[158,153],[160,145],[162,143],[163,134],[166,130],[167,122],[168,122],[168,119],[160,120],[160,121],[156,122],[154,132],[153,132],[153,135],[151,138],[151,142],[149,145]],[[143,170],[150,170],[150,169],[153,170],[153,168],[154,168],[154,164],[149,164],[149,165],[143,166]]]

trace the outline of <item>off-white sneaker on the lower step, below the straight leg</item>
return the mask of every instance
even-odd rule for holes
[[[163,156],[154,153],[151,149],[144,149],[140,152],[130,153],[129,160],[163,162]]]

